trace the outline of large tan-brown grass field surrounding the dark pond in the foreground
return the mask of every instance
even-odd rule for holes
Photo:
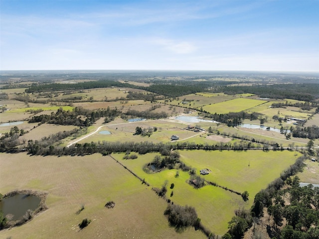
[[[163,212],[167,206],[115,160],[100,154],[40,157],[0,154],[0,193],[15,189],[47,191],[48,210],[0,238],[176,238],[204,239],[193,228],[176,233]],[[114,209],[104,205],[113,200]],[[76,212],[85,205],[85,209]],[[78,224],[92,220],[84,230]]]

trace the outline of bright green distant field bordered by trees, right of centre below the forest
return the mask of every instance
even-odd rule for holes
[[[261,105],[266,103],[264,100],[254,100],[254,99],[245,99],[245,98],[237,98],[225,102],[220,102],[212,105],[206,105],[203,107],[203,110],[214,114],[225,114],[228,112],[240,112],[243,110],[250,109],[257,105]]]

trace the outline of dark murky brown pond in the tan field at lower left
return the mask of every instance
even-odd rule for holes
[[[16,194],[12,197],[2,199],[0,202],[0,210],[3,215],[12,214],[13,221],[19,220],[25,215],[27,210],[34,211],[39,203],[40,199],[38,197],[26,194]]]

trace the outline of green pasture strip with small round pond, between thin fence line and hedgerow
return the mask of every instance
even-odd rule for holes
[[[139,155],[134,160],[124,160],[125,154],[112,154],[112,157],[119,160],[123,165],[132,170],[142,179],[144,178],[151,186],[160,188],[167,180],[166,197],[176,204],[193,206],[198,217],[204,226],[212,232],[223,235],[227,232],[227,223],[234,215],[234,210],[239,206],[245,206],[240,196],[213,186],[205,186],[201,189],[194,189],[187,182],[189,174],[179,171],[179,177],[175,177],[176,170],[163,170],[159,173],[147,174],[143,171],[145,164],[151,162],[156,153]],[[170,189],[170,184],[174,188]],[[170,197],[173,191],[173,196]]]

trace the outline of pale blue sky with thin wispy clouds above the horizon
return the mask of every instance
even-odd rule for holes
[[[319,71],[319,0],[0,0],[0,69]]]

